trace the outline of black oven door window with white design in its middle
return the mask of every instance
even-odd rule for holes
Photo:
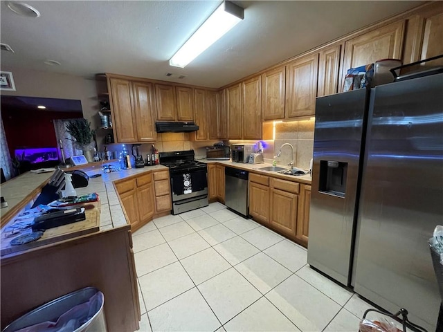
[[[171,174],[171,185],[172,192],[177,196],[205,190],[208,187],[206,169]]]

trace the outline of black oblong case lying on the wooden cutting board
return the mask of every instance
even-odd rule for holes
[[[86,219],[86,214],[84,214],[84,209],[82,208],[56,211],[37,216],[31,228],[33,230],[48,230],[49,228],[76,223],[84,219]]]

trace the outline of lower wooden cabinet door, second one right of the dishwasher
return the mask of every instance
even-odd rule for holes
[[[296,236],[298,196],[291,192],[271,188],[271,227],[286,234]]]

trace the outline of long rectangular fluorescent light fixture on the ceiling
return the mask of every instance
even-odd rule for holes
[[[230,1],[223,1],[169,60],[170,66],[184,68],[242,19],[243,8]]]

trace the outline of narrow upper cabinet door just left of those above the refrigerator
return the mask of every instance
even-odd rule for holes
[[[337,93],[341,45],[320,50],[317,97]]]

